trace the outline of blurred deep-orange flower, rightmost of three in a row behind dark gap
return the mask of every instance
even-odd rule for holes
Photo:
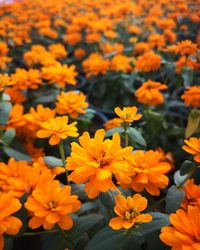
[[[146,52],[137,58],[135,66],[139,71],[150,72],[160,68],[161,57],[154,52]]]

